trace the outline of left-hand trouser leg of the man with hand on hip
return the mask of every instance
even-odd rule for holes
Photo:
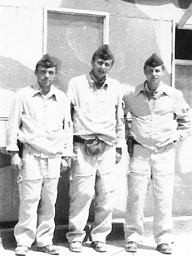
[[[128,201],[125,217],[125,240],[142,241],[143,210],[148,183],[150,182],[150,150],[135,145],[133,157],[129,160]]]

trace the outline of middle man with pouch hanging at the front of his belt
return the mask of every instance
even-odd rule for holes
[[[111,232],[116,163],[121,160],[125,141],[121,87],[107,77],[114,63],[108,45],[92,57],[89,74],[69,82],[68,97],[74,123],[74,154],[70,177],[69,250],[80,252],[93,197],[95,219],[90,236],[92,247],[106,248]]]

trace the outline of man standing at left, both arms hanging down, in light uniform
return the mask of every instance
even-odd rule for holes
[[[73,153],[73,132],[70,103],[54,86],[56,73],[55,59],[44,55],[35,68],[37,84],[16,93],[10,113],[6,150],[19,170],[16,255],[26,255],[35,240],[37,251],[59,254],[52,243],[57,183],[60,167],[67,167],[66,159]],[[23,143],[22,159],[17,140]]]

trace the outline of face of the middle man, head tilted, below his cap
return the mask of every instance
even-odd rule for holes
[[[103,60],[96,56],[95,61],[92,61],[92,72],[97,80],[102,80],[108,71],[111,70],[113,66],[113,59],[112,60]]]

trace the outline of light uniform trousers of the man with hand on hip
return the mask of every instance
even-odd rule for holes
[[[125,218],[125,240],[140,243],[144,235],[143,210],[147,188],[152,177],[154,197],[153,232],[155,242],[173,242],[172,199],[175,172],[174,143],[155,152],[134,145],[129,161],[128,202]]]

